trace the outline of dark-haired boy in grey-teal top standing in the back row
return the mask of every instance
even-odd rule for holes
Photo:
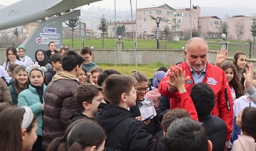
[[[89,47],[83,47],[81,49],[80,54],[83,56],[83,58],[85,58],[85,61],[83,62],[82,66],[86,69],[86,71],[89,72],[91,70],[91,68],[97,67],[97,65],[91,61],[93,54]]]

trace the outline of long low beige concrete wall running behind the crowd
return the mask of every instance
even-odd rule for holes
[[[74,49],[77,52],[80,49]],[[115,64],[115,49],[93,49],[93,62],[103,64]],[[135,64],[134,50],[123,49],[116,51],[117,64]],[[184,52],[181,49],[169,50],[169,49],[137,49],[136,51],[137,64],[150,64],[153,62],[163,62],[167,65],[173,65],[177,62],[184,61]],[[34,60],[34,56],[32,56]],[[211,50],[208,55],[208,61],[215,63],[216,51]],[[232,61],[232,57],[228,57],[227,61]],[[6,62],[6,49],[0,48],[0,64]],[[254,64],[254,70],[256,70],[256,59],[247,59],[247,62]]]

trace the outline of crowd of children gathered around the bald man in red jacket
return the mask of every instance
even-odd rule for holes
[[[54,42],[48,48],[36,50],[36,62],[25,46],[6,50],[0,151],[256,151],[256,74],[242,52],[233,63],[224,62],[223,49],[216,58],[230,88],[223,93],[231,99],[224,106],[234,110],[230,135],[223,116],[212,114],[218,102],[214,79],[188,89],[192,67],[160,67],[150,80],[139,71],[101,69],[88,47],[80,54],[67,46],[57,51]],[[168,79],[165,93],[162,79]],[[167,92],[178,94],[176,100]]]

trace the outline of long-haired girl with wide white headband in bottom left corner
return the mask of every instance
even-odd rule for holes
[[[37,120],[24,106],[10,107],[0,113],[0,151],[30,151],[37,139]],[[4,123],[4,124],[3,124]]]

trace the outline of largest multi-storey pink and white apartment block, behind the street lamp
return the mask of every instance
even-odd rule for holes
[[[192,12],[190,11],[189,8],[175,10],[167,4],[158,7],[137,9],[137,37],[144,39],[155,37],[157,23],[150,15],[156,19],[160,19],[159,33],[168,26],[173,34],[183,37],[185,33],[190,32],[190,14],[192,14],[192,29],[198,28],[200,7],[193,6]]]

